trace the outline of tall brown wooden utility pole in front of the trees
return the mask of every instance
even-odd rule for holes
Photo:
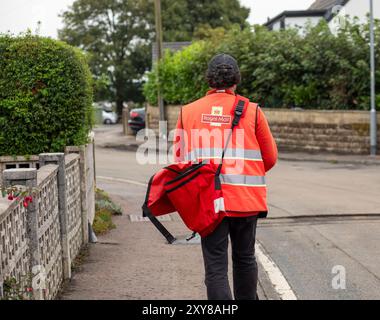
[[[156,17],[156,43],[157,43],[157,61],[162,58],[162,19],[161,19],[161,0],[154,0],[154,9]],[[158,108],[160,112],[160,121],[165,121],[165,107],[164,99],[161,94],[160,85],[160,72],[157,72],[158,76],[158,88],[157,88],[157,98],[158,98]],[[166,137],[166,130],[160,127],[160,138]]]

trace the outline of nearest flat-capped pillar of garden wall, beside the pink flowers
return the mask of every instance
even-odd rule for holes
[[[37,169],[9,169],[3,172],[3,181],[6,187],[26,186],[30,188],[37,187]],[[29,247],[30,270],[41,265],[41,253],[38,241],[38,206],[37,201],[28,205],[27,211],[27,237]],[[34,298],[43,300],[44,293],[42,289],[34,288]]]

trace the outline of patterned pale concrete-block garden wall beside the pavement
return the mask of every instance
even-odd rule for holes
[[[28,208],[22,199],[0,197],[0,296],[4,280],[14,278],[33,286],[33,298],[53,299],[88,242],[95,214],[93,144],[68,148],[67,154],[1,160],[3,185],[36,187],[37,195]],[[35,287],[36,279],[45,285]]]

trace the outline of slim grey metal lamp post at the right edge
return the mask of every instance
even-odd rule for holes
[[[377,153],[377,112],[376,112],[376,78],[375,78],[375,26],[373,19],[373,0],[369,0],[370,6],[370,42],[371,42],[371,155]]]

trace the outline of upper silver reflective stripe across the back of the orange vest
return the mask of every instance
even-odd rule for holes
[[[217,159],[221,158],[222,148],[203,148],[194,149],[186,156],[187,161],[196,161],[198,159]],[[242,159],[247,161],[263,161],[260,150],[250,149],[227,149],[225,159]]]

